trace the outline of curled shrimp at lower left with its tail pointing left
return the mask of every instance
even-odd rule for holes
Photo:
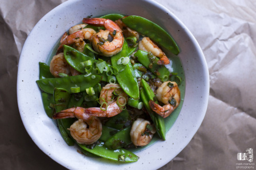
[[[75,107],[62,110],[53,115],[53,119],[76,117],[68,130],[72,137],[80,144],[92,144],[96,142],[102,133],[102,124],[98,117],[84,113],[84,108]],[[89,126],[89,128],[88,128]]]

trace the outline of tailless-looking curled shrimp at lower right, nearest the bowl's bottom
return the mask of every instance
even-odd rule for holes
[[[137,118],[133,123],[130,136],[134,145],[143,147],[152,140],[156,129],[154,126],[148,127],[147,125],[150,125],[150,122],[143,118]]]

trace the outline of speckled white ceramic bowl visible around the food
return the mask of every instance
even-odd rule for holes
[[[139,15],[167,30],[180,47],[180,60],[185,72],[184,103],[165,141],[136,152],[135,163],[118,163],[90,158],[68,147],[54,122],[42,106],[38,80],[38,62],[46,62],[57,40],[70,27],[89,15],[109,13]],[[70,169],[157,169],[180,153],[200,127],[209,94],[208,68],[199,44],[172,12],[154,1],[146,0],[71,0],[54,8],[29,34],[20,54],[17,78],[17,100],[24,126],[37,146],[59,164]]]

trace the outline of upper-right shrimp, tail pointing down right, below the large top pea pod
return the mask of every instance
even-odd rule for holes
[[[164,52],[148,37],[143,37],[142,40],[139,41],[139,50],[151,52],[153,55],[159,57],[160,60],[157,62],[159,65],[170,63]]]

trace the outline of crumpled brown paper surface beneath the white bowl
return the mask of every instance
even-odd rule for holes
[[[65,0],[0,3],[0,169],[65,169],[27,134],[16,100],[17,64],[37,21]],[[254,168],[238,160],[256,151],[256,1],[156,0],[191,31],[205,55],[210,96],[205,118],[187,147],[165,169]]]

